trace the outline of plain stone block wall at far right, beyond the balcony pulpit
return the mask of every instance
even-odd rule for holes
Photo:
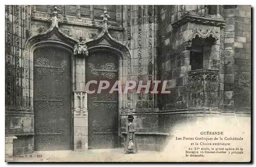
[[[250,112],[251,6],[225,9],[224,110]],[[222,86],[222,85],[221,85]],[[241,100],[243,99],[243,100]]]

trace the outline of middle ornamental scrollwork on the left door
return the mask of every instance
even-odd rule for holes
[[[34,99],[34,102],[39,110],[44,110],[50,106],[63,106],[63,97],[52,96],[51,94],[40,92]]]

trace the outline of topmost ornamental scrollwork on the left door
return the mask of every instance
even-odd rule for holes
[[[63,73],[67,62],[65,60],[60,62],[59,66],[53,66],[53,62],[49,61],[46,58],[38,58],[36,64],[34,65],[37,69],[37,73],[40,76],[46,76],[49,74],[53,74],[54,72],[57,74]]]

